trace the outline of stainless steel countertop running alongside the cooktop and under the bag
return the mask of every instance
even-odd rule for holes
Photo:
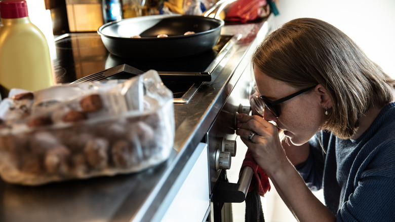
[[[226,101],[250,57],[270,30],[268,20],[225,25],[222,34],[241,39],[189,103],[175,104],[174,150],[168,161],[136,174],[24,187],[0,180],[0,221],[151,221],[195,147]]]

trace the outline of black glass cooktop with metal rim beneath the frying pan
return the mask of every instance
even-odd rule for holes
[[[57,58],[53,62],[56,83],[71,83],[122,64],[141,70],[212,72],[236,41],[233,35],[221,35],[212,50],[198,55],[172,59],[125,59],[109,53],[96,32],[63,34],[55,39]],[[202,83],[164,82],[172,90],[175,103],[187,103]]]

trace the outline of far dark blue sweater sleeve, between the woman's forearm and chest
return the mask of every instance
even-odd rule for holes
[[[311,191],[322,189],[325,156],[323,154],[323,147],[321,146],[323,143],[321,142],[320,144],[319,141],[320,137],[323,138],[323,134],[319,136],[319,133],[309,141],[310,152],[307,160],[295,166]]]

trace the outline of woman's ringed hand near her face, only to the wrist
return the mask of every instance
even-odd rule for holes
[[[236,134],[250,149],[255,162],[270,177],[277,170],[289,164],[279,138],[279,129],[259,116],[239,114]],[[249,136],[255,132],[251,141]]]

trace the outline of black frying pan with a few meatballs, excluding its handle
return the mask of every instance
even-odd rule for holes
[[[106,23],[97,32],[106,49],[119,57],[176,58],[213,48],[223,25],[223,20],[204,16],[151,15]],[[187,31],[195,33],[184,35]],[[157,38],[159,34],[168,37]]]

